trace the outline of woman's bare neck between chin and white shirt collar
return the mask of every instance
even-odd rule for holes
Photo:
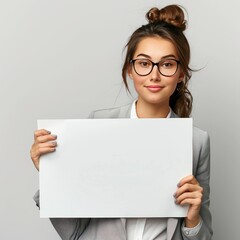
[[[166,118],[169,111],[169,104],[150,104],[140,99],[136,102],[136,112],[139,118]]]

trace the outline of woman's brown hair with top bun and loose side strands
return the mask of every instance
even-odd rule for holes
[[[189,117],[192,111],[192,95],[188,90],[188,82],[191,78],[192,70],[189,67],[190,47],[183,34],[186,29],[184,12],[180,6],[169,5],[162,9],[152,8],[147,14],[148,24],[138,28],[130,37],[126,48],[126,58],[122,68],[123,82],[129,91],[127,76],[130,60],[137,49],[141,40],[146,37],[162,37],[168,39],[176,48],[180,66],[184,73],[184,79],[177,84],[177,88],[170,97],[170,107],[180,117]]]

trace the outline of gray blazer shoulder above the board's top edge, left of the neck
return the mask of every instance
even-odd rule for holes
[[[124,106],[92,111],[89,118],[129,118],[132,103]]]

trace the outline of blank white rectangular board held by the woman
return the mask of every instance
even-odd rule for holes
[[[57,134],[40,160],[41,217],[184,217],[175,204],[192,174],[192,119],[39,120]]]

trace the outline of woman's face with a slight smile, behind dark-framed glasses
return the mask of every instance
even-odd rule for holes
[[[145,59],[154,63],[163,61],[162,67],[168,68],[168,59],[179,60],[174,45],[161,37],[147,37],[141,40],[137,46],[133,59],[143,59],[141,66],[145,67]],[[164,63],[166,60],[166,64]],[[136,63],[135,63],[136,66]],[[165,71],[165,70],[164,70]],[[183,72],[178,66],[178,70],[171,77],[160,74],[157,66],[153,67],[152,72],[147,76],[139,76],[130,65],[128,71],[129,77],[134,82],[134,87],[138,93],[138,101],[169,106],[170,96],[176,89],[177,83],[183,80]]]

